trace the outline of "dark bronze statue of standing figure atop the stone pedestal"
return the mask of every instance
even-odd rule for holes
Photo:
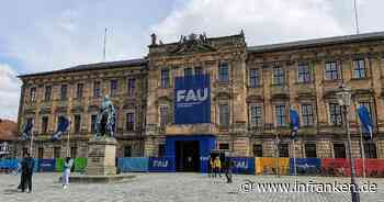
[[[95,137],[114,137],[116,113],[109,96],[104,97],[95,122]]]

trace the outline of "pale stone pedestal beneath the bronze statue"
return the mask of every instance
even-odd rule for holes
[[[116,175],[116,139],[112,137],[90,139],[86,173],[89,176]]]

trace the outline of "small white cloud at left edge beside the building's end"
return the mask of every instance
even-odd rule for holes
[[[21,82],[11,66],[0,64],[0,117],[18,119]]]

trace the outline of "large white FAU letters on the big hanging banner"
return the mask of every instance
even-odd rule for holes
[[[177,102],[203,102],[208,98],[208,89],[190,89],[190,90],[178,90],[177,92]]]

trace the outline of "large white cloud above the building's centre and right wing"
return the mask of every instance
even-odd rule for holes
[[[163,41],[245,30],[249,45],[348,34],[327,0],[191,0],[153,27]]]

